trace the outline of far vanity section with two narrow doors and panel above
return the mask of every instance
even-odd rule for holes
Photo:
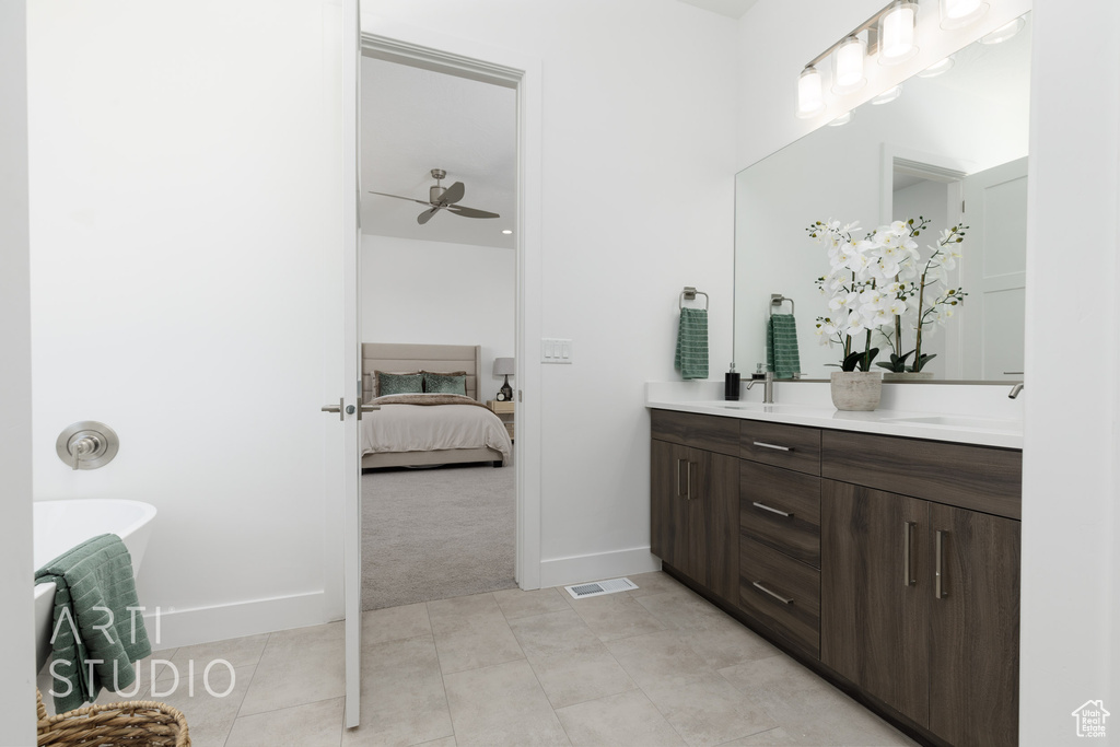
[[[728,423],[734,426],[731,431]],[[734,438],[728,438],[729,432]],[[682,441],[709,448],[684,446]],[[726,454],[732,449],[735,454]],[[737,451],[735,420],[653,411],[651,551],[730,603],[739,588]]]

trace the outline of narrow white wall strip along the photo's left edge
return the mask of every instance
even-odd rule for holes
[[[0,2],[0,745],[35,743],[27,7]]]

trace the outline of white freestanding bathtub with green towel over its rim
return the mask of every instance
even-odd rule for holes
[[[113,533],[124,541],[132,557],[132,572],[140,570],[156,506],[140,501],[82,498],[35,502],[35,568],[38,570],[76,544],[99,534]],[[141,604],[143,604],[141,601]],[[35,646],[37,669],[50,657],[50,623],[55,585],[35,587]]]

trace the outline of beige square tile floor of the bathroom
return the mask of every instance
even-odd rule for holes
[[[181,710],[194,747],[914,744],[669,576],[629,578],[365,613],[354,730],[342,623],[158,652],[123,699]]]

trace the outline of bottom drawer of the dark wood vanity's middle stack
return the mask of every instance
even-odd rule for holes
[[[821,572],[739,538],[739,604],[776,634],[820,656]]]

